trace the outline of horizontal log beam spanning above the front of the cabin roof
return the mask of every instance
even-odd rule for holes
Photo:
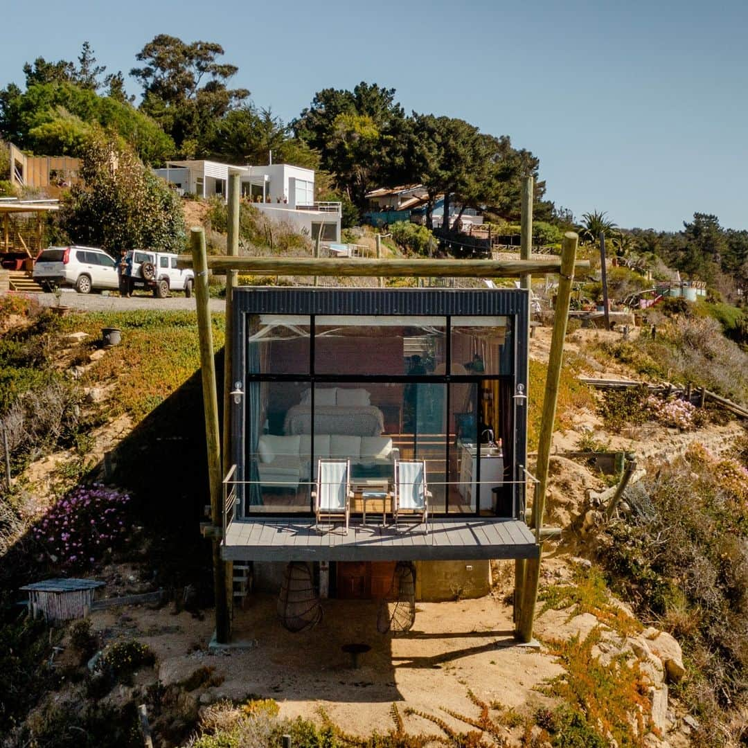
[[[345,257],[225,257],[207,259],[212,270],[236,269],[253,275],[333,275],[360,278],[518,278],[527,273],[557,273],[561,258],[534,260],[365,260]],[[191,268],[193,260],[181,254],[177,267]],[[589,260],[575,269],[589,270]]]

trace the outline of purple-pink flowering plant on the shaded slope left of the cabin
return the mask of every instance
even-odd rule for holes
[[[76,486],[37,522],[34,539],[63,567],[93,563],[125,536],[129,502],[119,488]]]

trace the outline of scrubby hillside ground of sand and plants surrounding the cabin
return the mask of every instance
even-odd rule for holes
[[[202,424],[194,417],[193,316],[60,319],[12,304],[2,316],[2,402],[27,382],[46,405],[16,416],[36,441],[13,453],[13,491],[2,496],[4,589],[64,565],[105,580],[108,597],[163,588],[170,602],[95,611],[91,631],[74,625],[49,637],[16,618],[17,595],[4,597],[10,654],[0,654],[0,669],[13,674],[0,694],[5,745],[77,746],[80,730],[86,745],[141,744],[129,726],[142,703],[162,746],[186,745],[195,729],[203,737],[192,745],[203,748],[280,744],[283,732],[299,746],[416,746],[432,742],[429,736],[471,746],[740,744],[748,622],[744,425],[710,407],[675,426],[642,398],[613,402],[577,381],[583,374],[646,378],[649,341],[585,329],[568,336],[546,521],[562,536],[546,543],[539,649],[506,646],[513,568],[497,563],[491,595],[468,600],[456,590],[453,602],[419,604],[416,631],[402,638],[372,634],[374,605],[345,601],[328,601],[325,624],[293,636],[275,623],[274,601],[257,595],[241,613],[253,646],[217,656],[207,649],[209,553],[197,533],[206,475]],[[99,349],[103,326],[123,330],[121,346]],[[673,331],[662,325],[660,361],[667,336],[687,327],[683,320]],[[222,328],[217,315],[217,345]],[[531,422],[549,341],[550,329],[536,329]],[[671,343],[681,345],[675,337]],[[714,355],[721,346],[711,337],[701,343]],[[722,347],[737,367],[723,372],[725,386],[739,394],[745,359]],[[671,376],[677,379],[675,370]],[[568,455],[601,448],[633,452],[646,470],[610,523],[600,495],[617,476]],[[97,479],[111,486],[108,506],[123,524],[114,523],[105,548],[86,548],[81,564],[61,555],[44,521],[67,521],[64,532],[82,536],[95,515],[67,513],[65,502],[76,486]],[[96,506],[103,489],[91,490],[83,500]],[[352,671],[339,646],[358,637],[373,649]],[[106,678],[85,666],[102,648],[114,663]],[[379,742],[362,742],[373,730]],[[224,742],[214,737],[221,731]],[[231,743],[229,734],[243,742]]]

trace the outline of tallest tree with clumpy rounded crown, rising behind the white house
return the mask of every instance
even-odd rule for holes
[[[168,132],[184,156],[194,156],[228,111],[249,96],[245,88],[227,87],[239,70],[218,61],[224,48],[215,42],[185,43],[159,34],[136,58],[144,62],[130,75],[141,82],[141,109]]]

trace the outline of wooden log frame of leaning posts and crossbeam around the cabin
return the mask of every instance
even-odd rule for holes
[[[231,186],[230,192],[236,191]],[[237,197],[232,194],[230,213],[238,218]],[[568,319],[568,302],[574,272],[589,270],[589,261],[577,262],[577,234],[568,232],[564,236],[561,257],[521,260],[366,260],[317,257],[239,257],[238,236],[233,227],[229,245],[229,256],[206,254],[205,233],[202,227],[191,229],[191,255],[180,255],[177,266],[194,269],[195,295],[197,300],[197,322],[200,331],[200,363],[203,373],[203,405],[206,420],[206,442],[210,475],[212,526],[205,534],[212,538],[214,582],[216,593],[216,641],[227,643],[230,637],[230,603],[227,599],[226,577],[221,567],[218,544],[221,542],[221,441],[218,432],[218,403],[215,387],[215,361],[213,358],[212,328],[207,292],[209,269],[227,272],[227,320],[233,316],[233,283],[237,271],[253,275],[301,275],[362,278],[528,278],[533,273],[554,273],[560,276],[559,296],[554,322],[551,352],[548,364],[545,399],[538,457],[538,485],[533,500],[531,524],[535,527],[539,542],[545,507],[545,491],[548,480],[548,456],[550,454],[553,421],[558,396],[563,343]],[[523,252],[529,254],[529,252]],[[225,361],[232,360],[230,337],[227,337]],[[224,414],[227,417],[227,414]],[[230,423],[224,423],[230,429]],[[225,455],[224,455],[225,459]],[[533,637],[533,619],[540,577],[540,558],[517,560],[515,573],[515,619],[517,636],[529,642]]]

